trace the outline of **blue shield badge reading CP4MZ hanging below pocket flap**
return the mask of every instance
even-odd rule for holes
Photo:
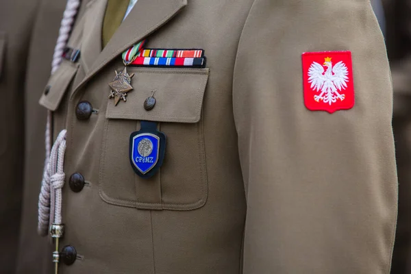
[[[129,158],[132,168],[142,178],[150,178],[162,166],[166,151],[166,135],[157,130],[157,123],[141,121],[138,132],[130,135]]]

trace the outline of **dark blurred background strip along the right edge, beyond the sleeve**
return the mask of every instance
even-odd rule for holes
[[[399,212],[393,274],[411,273],[411,0],[384,0],[386,46],[394,89]]]

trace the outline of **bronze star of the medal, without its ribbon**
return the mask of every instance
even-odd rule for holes
[[[121,72],[114,72],[116,73],[116,77],[114,77],[113,82],[108,83],[108,86],[112,89],[108,98],[114,98],[114,105],[117,105],[121,99],[127,101],[127,99],[125,99],[127,92],[133,90],[132,77],[134,73],[129,75],[126,67]]]

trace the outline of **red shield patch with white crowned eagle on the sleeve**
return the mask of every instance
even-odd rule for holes
[[[302,60],[306,108],[333,113],[353,107],[351,51],[306,52]]]

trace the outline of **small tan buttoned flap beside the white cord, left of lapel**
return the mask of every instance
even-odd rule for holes
[[[58,70],[51,75],[40,98],[40,105],[52,111],[57,110],[78,68],[79,64],[63,60]]]

